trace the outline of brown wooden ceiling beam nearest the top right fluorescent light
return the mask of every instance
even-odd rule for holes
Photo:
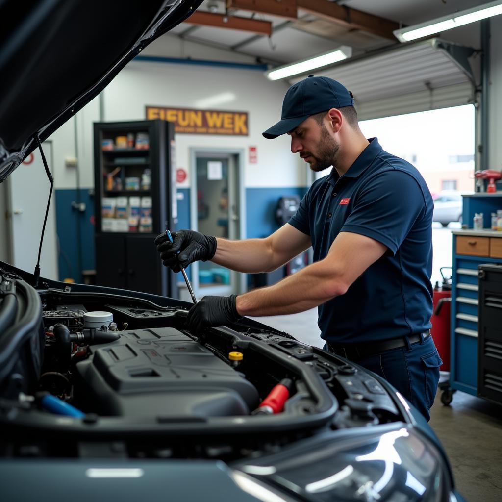
[[[396,37],[392,33],[399,30],[401,26],[395,21],[373,16],[362,11],[356,11],[349,7],[340,6],[326,0],[296,0],[298,9],[313,14],[319,18],[337,23],[356,30],[365,31],[387,38],[396,42]]]

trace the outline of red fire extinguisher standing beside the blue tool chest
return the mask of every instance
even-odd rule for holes
[[[445,277],[443,269],[451,267],[441,267],[439,271],[443,281],[441,285],[436,282],[432,295],[433,314],[431,317],[431,333],[434,343],[438,349],[443,364],[440,366],[441,371],[450,370],[450,306],[451,306],[451,276]]]

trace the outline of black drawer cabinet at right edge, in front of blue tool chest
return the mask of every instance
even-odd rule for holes
[[[502,264],[480,265],[477,392],[502,404]]]

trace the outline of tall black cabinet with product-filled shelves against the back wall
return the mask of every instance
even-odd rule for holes
[[[103,140],[114,141],[117,136],[128,134],[137,138],[138,133],[148,135],[149,147],[135,146],[103,150]],[[94,187],[95,187],[95,253],[96,284],[113,288],[142,291],[173,298],[178,297],[176,275],[162,266],[154,246],[155,237],[168,228],[175,229],[173,217],[176,203],[176,185],[171,165],[174,151],[174,124],[165,120],[141,120],[131,122],[94,123]],[[126,159],[127,162],[126,162]],[[140,185],[139,190],[127,186],[110,186],[107,174],[117,167],[121,179],[131,175],[140,178],[145,169],[151,171],[149,189]],[[130,188],[130,187],[129,187]],[[103,197],[151,197],[152,228],[140,232],[103,230]]]

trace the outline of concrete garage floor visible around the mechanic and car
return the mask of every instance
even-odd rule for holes
[[[317,309],[300,314],[255,317],[298,340],[322,347]],[[440,393],[431,409],[430,424],[446,449],[457,489],[468,502],[502,500],[502,407],[456,392],[451,406]]]

